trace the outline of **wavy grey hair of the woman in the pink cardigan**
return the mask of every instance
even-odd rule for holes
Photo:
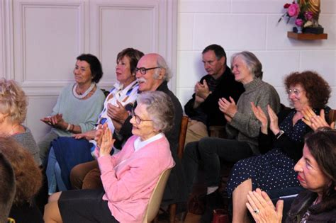
[[[146,105],[148,115],[156,130],[167,133],[174,125],[174,104],[162,91],[146,91],[137,98],[138,105]]]

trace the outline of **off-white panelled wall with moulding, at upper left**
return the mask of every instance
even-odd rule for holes
[[[176,69],[176,37],[176,0],[1,0],[0,77],[15,79],[28,95],[25,124],[38,140],[49,130],[40,118],[74,81],[78,55],[101,60],[99,86],[110,89],[125,47],[158,52]]]

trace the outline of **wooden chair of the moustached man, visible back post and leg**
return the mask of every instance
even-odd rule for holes
[[[179,130],[179,146],[177,147],[177,156],[182,159],[184,153],[184,142],[186,142],[186,128],[188,127],[188,116],[183,115],[181,120],[181,127]],[[177,204],[170,204],[169,210],[169,223],[175,222],[175,215],[177,213]]]

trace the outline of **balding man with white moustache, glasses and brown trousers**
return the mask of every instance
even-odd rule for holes
[[[136,78],[138,79],[139,91],[162,91],[166,93],[174,104],[174,127],[167,132],[166,137],[170,144],[172,156],[176,165],[170,173],[167,183],[166,191],[164,193],[163,201],[169,203],[179,203],[186,201],[186,184],[184,183],[184,172],[181,166],[181,161],[177,157],[177,146],[179,140],[179,130],[182,118],[182,107],[179,103],[179,99],[174,96],[174,93],[169,90],[167,83],[172,77],[172,74],[165,62],[164,58],[157,54],[148,54],[138,62],[136,68]],[[136,105],[134,106],[134,108]],[[123,109],[121,109],[123,110]],[[113,138],[116,139],[114,146],[122,144],[132,135],[132,125],[130,124],[131,114],[128,114],[128,118],[125,119],[121,128],[115,131]],[[140,120],[141,121],[141,120]],[[86,175],[83,176],[83,169],[86,169]],[[80,170],[80,171],[78,171]],[[81,172],[81,176],[77,173]],[[85,164],[79,164],[72,169],[70,180],[72,184],[82,184],[82,188],[97,188],[102,186],[100,182],[100,172],[96,161],[91,161]]]

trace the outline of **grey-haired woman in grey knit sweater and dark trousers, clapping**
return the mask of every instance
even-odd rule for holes
[[[182,164],[186,173],[189,191],[192,188],[197,173],[198,160],[202,159],[206,171],[206,185],[208,186],[206,202],[211,211],[210,215],[203,215],[203,222],[210,222],[213,207],[216,207],[218,185],[220,183],[220,159],[237,162],[240,159],[259,154],[257,137],[260,122],[254,117],[251,104],[262,110],[271,105],[276,113],[280,110],[280,98],[275,88],[262,81],[262,64],[252,52],[238,52],[231,59],[231,67],[235,81],[244,85],[245,92],[235,102],[220,98],[219,109],[227,120],[226,133],[228,139],[204,137],[198,142],[186,144]],[[236,104],[237,103],[237,104]],[[235,207],[234,207],[235,208]],[[235,216],[233,219],[236,221]],[[237,221],[239,222],[239,221]]]

